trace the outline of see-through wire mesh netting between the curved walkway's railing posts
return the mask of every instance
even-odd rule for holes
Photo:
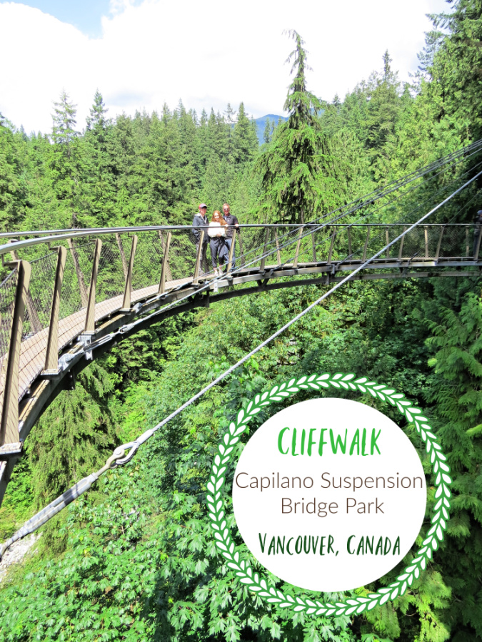
[[[293,267],[295,261],[298,267],[336,263],[338,267],[345,264],[349,269],[378,253],[402,233],[405,233],[403,238],[377,258],[376,263],[387,259],[465,261],[473,260],[476,254],[480,230],[474,225],[418,225],[407,232],[408,227],[409,224],[402,223],[306,224],[302,228],[246,226],[237,230],[232,267],[236,271],[256,271],[263,260],[265,270],[278,265]],[[131,304],[158,292],[168,243],[168,233],[164,230],[141,232],[137,236]],[[133,236],[113,234],[103,236],[101,240],[96,277],[96,321],[121,308]],[[59,305],[59,350],[84,329],[95,249],[93,238],[71,240],[67,248]],[[30,255],[26,251],[22,256],[30,261],[32,271],[22,332],[19,399],[44,367],[49,334],[58,253],[54,250],[40,254],[37,245]],[[166,262],[166,290],[190,282],[195,267],[196,244],[191,231],[172,230]],[[201,266],[201,270],[214,276],[210,250],[206,252],[206,265]],[[0,382],[9,350],[16,282],[16,270],[13,270],[0,284]]]

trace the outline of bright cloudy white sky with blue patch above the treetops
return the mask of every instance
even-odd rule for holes
[[[0,113],[27,133],[50,133],[66,91],[85,127],[97,89],[109,112],[236,110],[283,114],[285,64],[296,29],[308,50],[308,89],[341,98],[388,49],[401,81],[416,71],[444,0],[26,0],[0,1]]]

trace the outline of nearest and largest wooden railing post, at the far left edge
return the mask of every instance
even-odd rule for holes
[[[31,265],[27,261],[16,261],[16,270],[17,282],[11,319],[9,355],[6,360],[4,391],[1,395],[0,447],[12,444],[18,450],[21,334],[29,292]]]

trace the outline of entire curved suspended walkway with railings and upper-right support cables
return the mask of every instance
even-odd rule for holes
[[[325,285],[324,298],[348,280],[478,278],[481,226],[458,222],[455,197],[482,175],[481,163],[429,195],[420,189],[480,151],[482,142],[303,225],[240,225],[221,276],[204,272],[191,225],[1,234],[0,502],[44,409],[141,328],[281,287]],[[401,199],[411,210],[388,222]],[[438,222],[428,222],[434,213]]]

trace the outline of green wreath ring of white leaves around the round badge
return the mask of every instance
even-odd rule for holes
[[[207,484],[208,494],[207,503],[209,517],[211,518],[211,528],[214,530],[214,538],[219,552],[227,561],[230,569],[233,569],[239,580],[259,596],[264,598],[268,603],[276,603],[281,608],[291,607],[293,611],[304,611],[307,615],[326,615],[341,616],[351,615],[351,613],[363,613],[370,611],[375,606],[381,606],[388,600],[394,600],[402,596],[413,581],[420,576],[421,571],[426,568],[427,560],[431,559],[433,551],[438,549],[439,542],[443,541],[443,533],[446,530],[448,521],[448,509],[450,508],[451,496],[449,485],[452,479],[449,475],[450,468],[446,464],[446,456],[441,452],[441,446],[437,442],[436,435],[433,434],[428,420],[423,417],[422,411],[412,405],[405,395],[396,392],[392,388],[374,381],[368,381],[367,377],[355,379],[355,374],[344,374],[337,372],[329,374],[328,372],[318,375],[301,377],[300,379],[290,379],[288,382],[273,387],[268,392],[257,394],[254,401],[251,401],[246,409],[241,409],[238,413],[236,422],[231,422],[229,429],[224,434],[219,444],[211,468],[211,474]],[[355,379],[353,381],[353,379]],[[415,559],[407,566],[397,581],[389,586],[380,588],[376,593],[369,593],[367,597],[348,598],[346,601],[336,603],[323,603],[318,600],[312,600],[303,596],[292,596],[289,593],[283,593],[273,586],[268,586],[266,579],[251,569],[251,566],[244,561],[239,551],[236,550],[231,533],[227,527],[226,516],[224,512],[224,501],[221,499],[221,489],[225,484],[224,473],[226,464],[231,458],[231,452],[234,445],[239,442],[239,436],[246,430],[248,422],[263,407],[272,402],[281,401],[291,397],[299,392],[300,389],[321,390],[327,388],[337,388],[346,390],[355,390],[358,392],[368,392],[372,397],[388,402],[396,406],[408,422],[414,422],[418,434],[426,444],[427,453],[430,454],[433,472],[436,474],[436,492],[437,499],[433,507],[432,526],[429,529],[426,539],[423,540],[422,548],[417,551]]]

